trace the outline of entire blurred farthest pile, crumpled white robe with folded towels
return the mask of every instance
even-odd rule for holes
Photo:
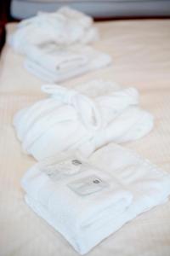
[[[89,44],[99,38],[91,17],[63,7],[38,13],[19,23],[9,44],[26,55],[28,72],[48,82],[60,82],[111,64],[111,56]]]

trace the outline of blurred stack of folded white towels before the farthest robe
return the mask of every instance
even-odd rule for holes
[[[60,82],[111,64],[111,56],[82,44],[40,44],[27,49],[25,67],[47,82]]]

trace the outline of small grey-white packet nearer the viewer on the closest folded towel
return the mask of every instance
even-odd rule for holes
[[[90,195],[109,187],[109,183],[106,183],[97,175],[91,175],[68,183],[67,186],[77,195]]]

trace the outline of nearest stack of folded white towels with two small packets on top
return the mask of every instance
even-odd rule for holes
[[[121,146],[110,144],[88,160],[59,155],[22,179],[26,202],[79,253],[140,213],[167,201],[170,176]]]

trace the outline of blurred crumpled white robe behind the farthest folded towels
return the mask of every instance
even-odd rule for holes
[[[93,20],[88,15],[62,7],[54,13],[39,12],[22,20],[8,43],[20,54],[26,54],[31,45],[55,42],[60,45],[88,44],[99,38]]]

